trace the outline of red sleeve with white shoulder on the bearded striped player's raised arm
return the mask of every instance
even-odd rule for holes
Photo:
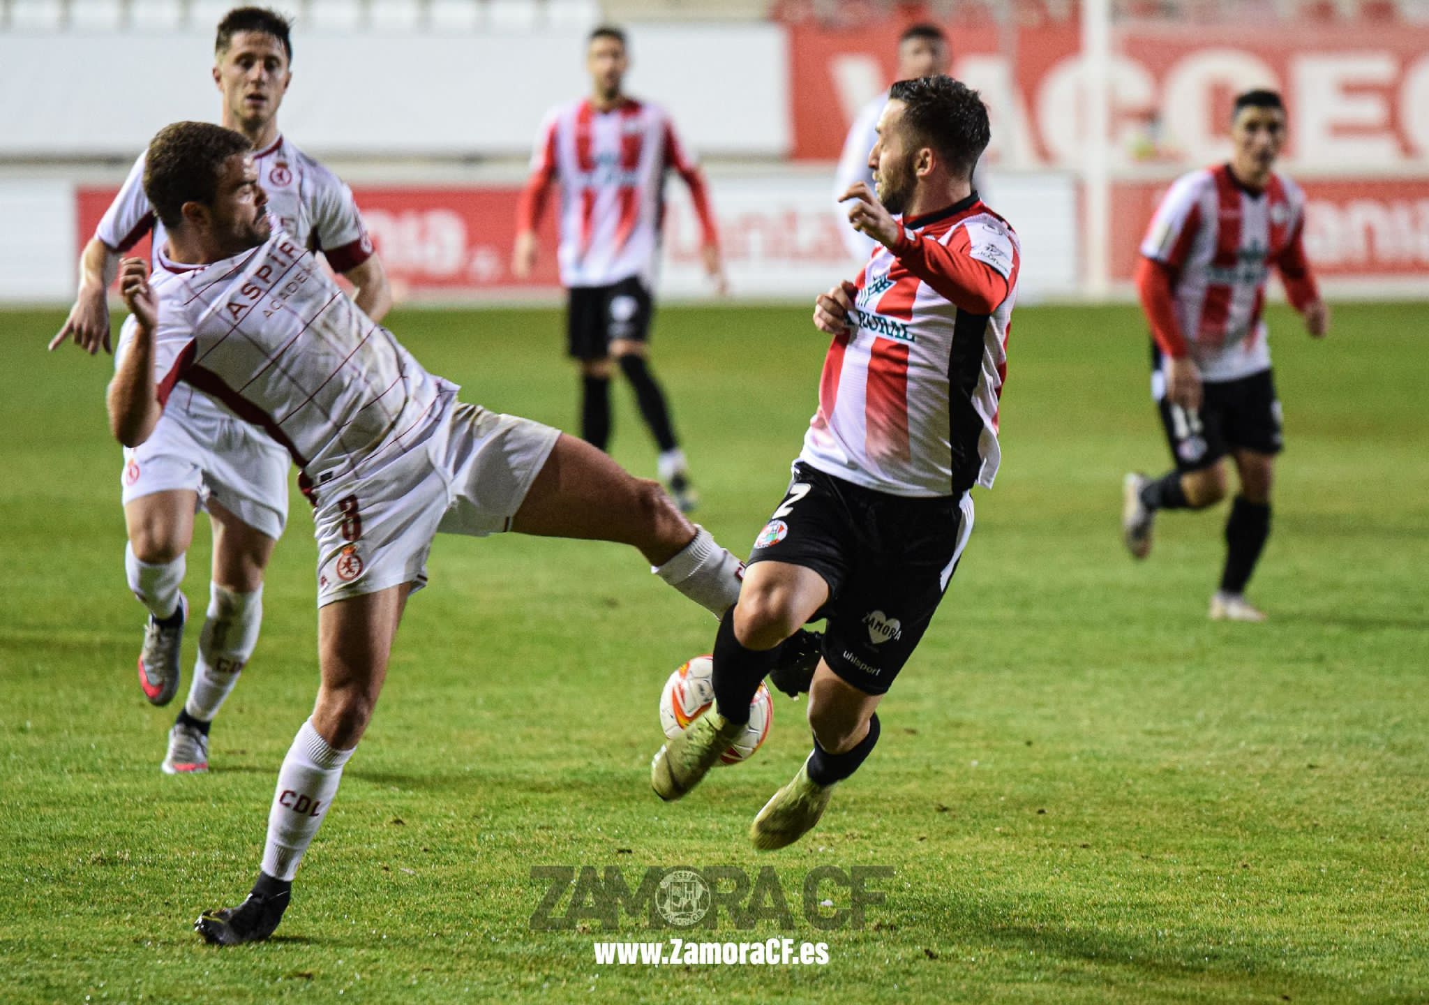
[[[946,244],[903,230],[890,249],[903,266],[959,310],[990,315],[1017,282],[1017,244],[1006,227],[972,220],[953,230]]]

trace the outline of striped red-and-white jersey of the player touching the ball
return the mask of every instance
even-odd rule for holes
[[[800,460],[896,496],[962,495],[997,473],[997,400],[1017,296],[1017,234],[975,192],[903,220],[859,273]]]

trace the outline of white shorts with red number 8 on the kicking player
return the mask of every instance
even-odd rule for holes
[[[317,606],[402,583],[422,589],[439,533],[510,530],[559,437],[539,422],[457,402],[392,462],[323,483],[313,513]]]

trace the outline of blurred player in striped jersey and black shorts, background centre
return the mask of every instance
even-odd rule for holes
[[[524,279],[536,264],[536,223],[553,186],[560,186],[560,282],[567,289],[569,352],[580,365],[580,435],[604,450],[610,439],[610,360],[634,389],[659,446],[659,472],[680,509],[697,497],[664,393],[650,372],[652,290],[664,217],[664,173],[690,187],[703,232],[704,270],[720,293],[725,272],[704,176],[674,136],[664,109],[637,102],[622,87],[630,66],[620,29],[590,33],[586,69],[590,97],[546,116],[532,176],[516,210],[512,272]]]

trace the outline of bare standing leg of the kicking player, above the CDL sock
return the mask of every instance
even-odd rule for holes
[[[339,749],[356,746],[372,721],[409,590],[402,583],[343,598],[317,612],[322,685],[313,728]]]

